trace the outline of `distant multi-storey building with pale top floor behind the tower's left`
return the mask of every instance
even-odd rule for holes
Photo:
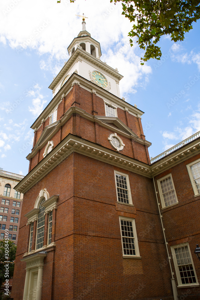
[[[4,239],[5,229],[9,239],[17,244],[19,221],[21,217],[23,194],[14,187],[24,176],[0,169],[0,240]]]

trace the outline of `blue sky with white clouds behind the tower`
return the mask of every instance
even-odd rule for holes
[[[0,3],[0,167],[26,175],[33,130],[30,126],[52,99],[48,88],[67,47],[82,29],[100,42],[102,56],[124,76],[121,97],[144,111],[142,125],[154,157],[200,130],[200,22],[185,40],[162,38],[161,61],[140,65],[142,51],[129,45],[131,23],[121,4],[109,0],[1,0]]]

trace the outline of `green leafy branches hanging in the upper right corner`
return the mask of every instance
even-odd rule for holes
[[[162,53],[160,47],[156,46],[160,37],[170,35],[174,42],[183,41],[184,34],[193,28],[192,23],[200,18],[200,1],[197,0],[110,0],[110,2],[121,2],[122,14],[130,22],[134,22],[128,36],[131,46],[135,41],[133,39],[136,38],[139,47],[145,50],[141,61],[148,61],[150,58],[160,59]]]

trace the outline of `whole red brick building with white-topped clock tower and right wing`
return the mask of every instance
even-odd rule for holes
[[[200,139],[150,162],[143,112],[121,99],[123,76],[82,25],[31,126],[12,297],[200,299]]]

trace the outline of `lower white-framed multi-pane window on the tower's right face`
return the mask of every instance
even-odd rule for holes
[[[119,217],[123,256],[139,256],[135,219]]]

